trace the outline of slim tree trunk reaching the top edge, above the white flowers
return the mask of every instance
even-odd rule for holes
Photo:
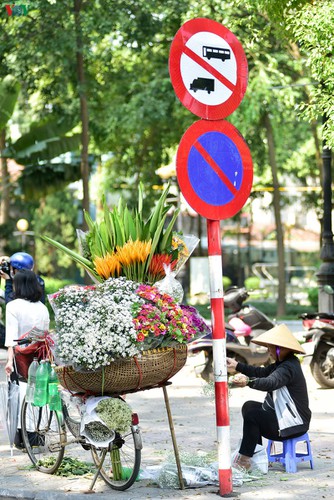
[[[82,41],[82,28],[81,28],[81,10],[82,0],[74,0],[74,19],[76,31],[76,44],[77,44],[77,77],[78,89],[80,98],[80,119],[81,119],[81,178],[83,187],[83,200],[82,208],[89,212],[89,162],[88,162],[88,145],[89,145],[89,116],[86,94],[86,79],[85,79],[85,66],[83,56],[83,41]],[[86,228],[85,221],[83,222]]]

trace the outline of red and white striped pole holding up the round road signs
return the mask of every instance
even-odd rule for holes
[[[233,486],[220,221],[208,219],[207,233],[218,441],[219,493],[221,496],[224,496],[232,492]]]

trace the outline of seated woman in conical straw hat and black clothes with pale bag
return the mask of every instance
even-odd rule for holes
[[[255,367],[226,358],[227,368],[240,372],[233,377],[235,386],[267,392],[263,403],[246,401],[242,407],[243,437],[233,465],[246,470],[262,437],[283,441],[302,436],[311,420],[306,380],[295,356],[305,351],[292,332],[286,325],[276,325],[252,342],[266,346],[275,362]]]

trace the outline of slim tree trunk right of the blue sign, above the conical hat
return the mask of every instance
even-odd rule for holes
[[[269,164],[273,176],[273,204],[275,213],[276,236],[277,236],[277,257],[278,257],[278,301],[277,316],[285,314],[286,305],[286,277],[285,277],[285,259],[284,259],[284,233],[281,220],[281,195],[279,191],[278,172],[276,163],[276,150],[274,133],[269,113],[264,115],[264,125],[266,129]]]

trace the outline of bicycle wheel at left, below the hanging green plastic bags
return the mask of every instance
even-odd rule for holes
[[[24,446],[37,470],[54,474],[65,452],[66,430],[62,416],[48,405],[38,407],[23,402],[21,430]]]

